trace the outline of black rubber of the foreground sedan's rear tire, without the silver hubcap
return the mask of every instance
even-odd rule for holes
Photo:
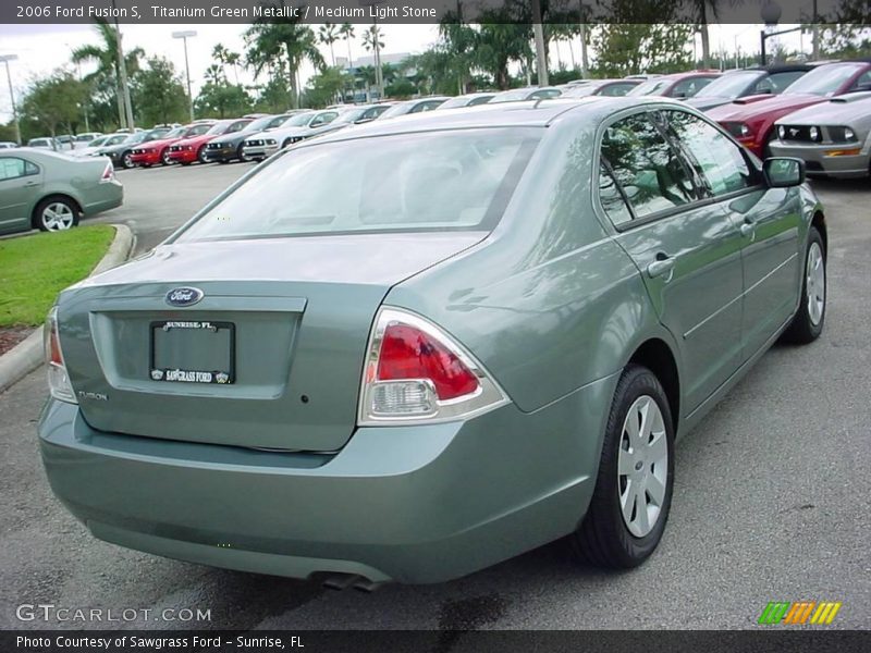
[[[624,423],[629,409],[641,397],[650,397],[662,414],[667,446],[664,498],[659,516],[643,537],[634,535],[621,512],[621,477],[617,458],[624,440]],[[639,467],[641,464],[639,463]],[[651,468],[652,469],[652,468]],[[643,485],[642,485],[643,486]],[[571,535],[578,557],[597,567],[628,569],[643,563],[657,549],[668,520],[674,486],[674,426],[668,399],[659,379],[649,369],[630,364],[617,382],[614,401],[608,417],[599,475],[587,514],[578,529]]]

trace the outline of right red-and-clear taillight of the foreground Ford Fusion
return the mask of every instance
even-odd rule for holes
[[[379,311],[364,368],[360,424],[465,419],[505,403],[495,381],[441,329],[405,310]]]

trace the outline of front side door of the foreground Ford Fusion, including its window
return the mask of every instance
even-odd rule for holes
[[[744,149],[707,121],[685,111],[664,113],[709,195],[720,199],[741,233],[744,361],[765,345],[795,309],[800,266],[798,194],[768,188]]]

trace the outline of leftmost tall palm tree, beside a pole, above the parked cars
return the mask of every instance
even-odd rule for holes
[[[102,42],[100,45],[83,46],[73,50],[73,63],[91,61],[97,63],[97,70],[85,77],[85,82],[94,87],[95,98],[90,102],[95,108],[96,124],[105,126],[108,121],[107,111],[101,103],[118,106],[118,123],[124,124],[124,98],[121,94],[121,73],[118,67],[118,32],[106,21],[97,21],[97,33]],[[124,54],[124,64],[127,74],[132,77],[139,70],[139,59],[145,57],[142,48],[134,48]]]

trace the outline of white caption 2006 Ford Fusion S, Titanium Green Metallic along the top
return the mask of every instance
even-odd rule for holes
[[[305,7],[253,4],[252,7],[230,7],[212,4],[204,7],[165,7],[163,4],[143,4],[133,7],[82,5],[61,7],[60,4],[17,5],[20,19],[299,19],[327,21],[389,19],[434,19],[436,10],[425,7]]]

